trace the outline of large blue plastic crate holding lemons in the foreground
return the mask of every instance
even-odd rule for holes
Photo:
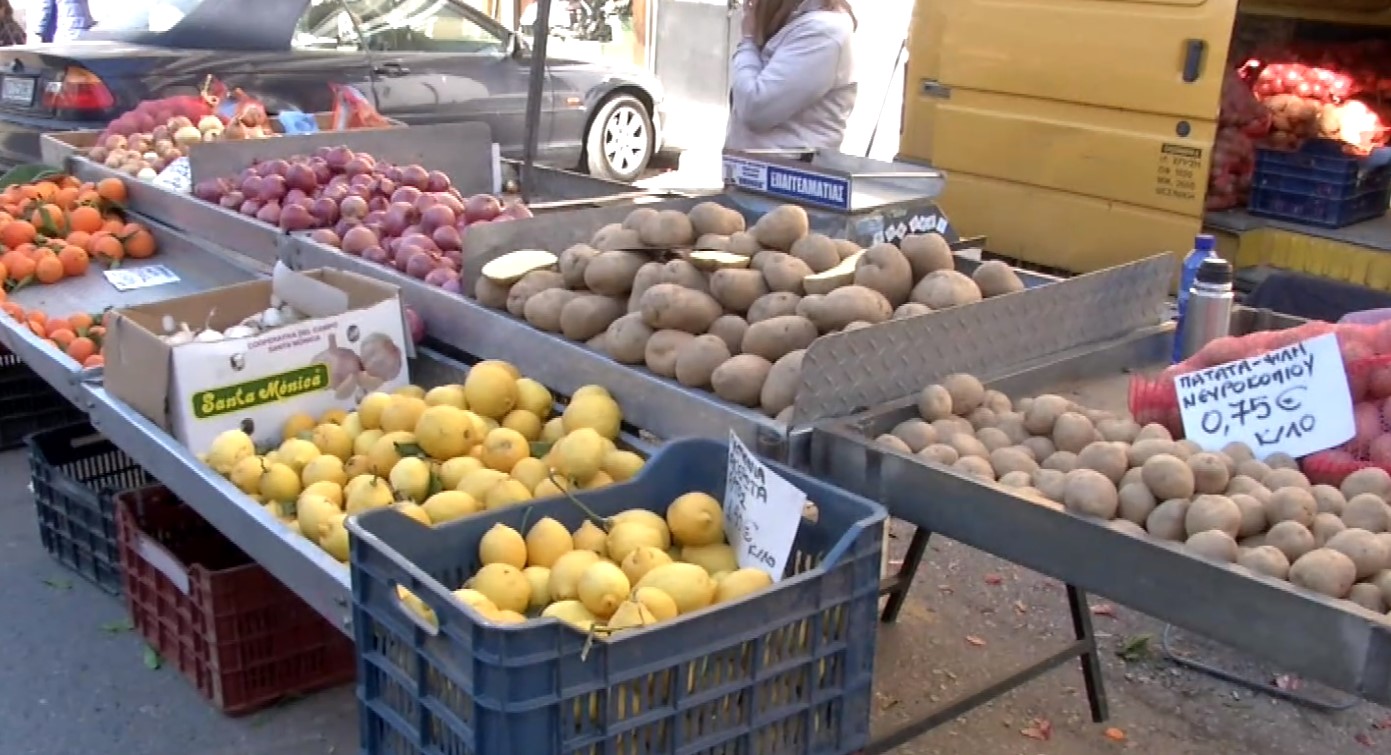
[[[662,448],[632,481],[580,499],[602,516],[723,496],[727,445]],[[869,741],[886,513],[769,464],[807,492],[790,574],[741,601],[595,640],[555,619],[483,624],[451,598],[495,523],[579,527],[558,498],[428,528],[395,512],[349,520],[359,724],[370,755],[847,754]],[[406,587],[438,627],[396,598]]]

